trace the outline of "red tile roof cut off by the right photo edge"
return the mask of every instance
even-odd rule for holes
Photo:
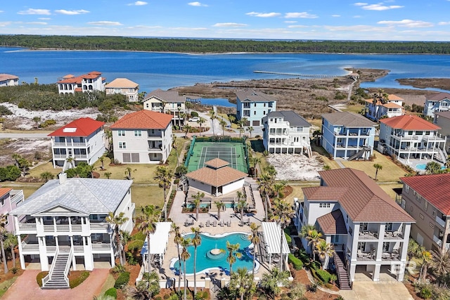
[[[450,216],[450,174],[402,177],[400,180],[443,214]]]

